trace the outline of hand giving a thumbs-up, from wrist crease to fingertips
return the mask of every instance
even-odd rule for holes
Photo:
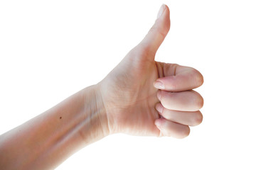
[[[202,75],[154,61],[169,29],[169,8],[163,5],[144,40],[98,84],[110,133],[182,138],[189,125],[201,123],[203,98],[192,89],[203,84]]]

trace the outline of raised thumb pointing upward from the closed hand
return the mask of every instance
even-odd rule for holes
[[[159,9],[156,22],[154,26],[149,30],[149,33],[145,36],[142,42],[139,43],[139,47],[143,51],[149,52],[150,55],[156,55],[156,51],[159,49],[161,43],[164,41],[167,33],[170,30],[170,11],[168,6],[163,4]]]

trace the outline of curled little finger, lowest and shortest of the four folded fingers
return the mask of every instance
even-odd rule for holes
[[[174,123],[164,118],[156,119],[154,123],[156,127],[159,128],[160,130],[159,137],[168,136],[168,137],[184,138],[184,137],[187,137],[190,133],[190,128],[187,125]]]

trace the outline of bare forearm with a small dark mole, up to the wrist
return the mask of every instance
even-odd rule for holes
[[[78,149],[105,137],[107,118],[95,86],[1,135],[0,167],[53,169]]]

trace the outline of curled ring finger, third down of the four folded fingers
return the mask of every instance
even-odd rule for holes
[[[156,104],[156,111],[159,111],[159,114],[162,115],[166,120],[171,120],[183,125],[195,126],[199,125],[203,120],[203,115],[200,111],[171,111],[164,108],[161,103]]]

